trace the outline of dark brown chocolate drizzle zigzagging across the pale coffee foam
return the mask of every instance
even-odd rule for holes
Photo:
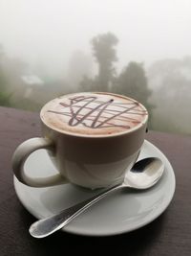
[[[68,125],[86,128],[131,128],[127,123],[138,124],[137,115],[146,115],[144,109],[138,108],[138,102],[117,102],[114,99],[101,101],[96,96],[75,96],[61,102],[63,111],[48,110],[50,113],[69,117]],[[133,117],[131,117],[133,115]]]

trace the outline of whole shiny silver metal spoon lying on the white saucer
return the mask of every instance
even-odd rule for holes
[[[128,187],[144,190],[151,188],[159,181],[163,171],[164,164],[159,158],[149,157],[141,159],[127,173],[122,184],[109,187],[93,198],[88,198],[79,202],[44,220],[35,221],[30,227],[30,234],[34,238],[44,238],[53,234],[55,231],[67,225],[70,221],[73,221],[75,217],[95,204],[98,200],[105,198],[118,189]]]

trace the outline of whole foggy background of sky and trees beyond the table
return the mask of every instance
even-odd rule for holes
[[[0,105],[39,111],[75,91],[145,105],[191,135],[190,0],[0,0]]]

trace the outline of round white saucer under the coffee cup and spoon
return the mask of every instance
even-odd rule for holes
[[[175,192],[175,175],[165,155],[145,141],[139,158],[158,156],[165,164],[159,183],[146,191],[127,189],[103,198],[74,221],[64,231],[87,236],[108,236],[129,232],[155,220],[169,205]],[[46,151],[32,153],[26,163],[30,175],[41,172],[53,174],[53,164]],[[97,192],[70,184],[48,188],[32,188],[20,183],[14,176],[14,187],[21,203],[37,219],[45,218],[72,206]]]

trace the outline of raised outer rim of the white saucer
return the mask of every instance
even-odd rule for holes
[[[94,232],[90,233],[90,232],[84,232],[84,230],[80,231],[80,230],[74,229],[74,228],[70,229],[69,225],[64,227],[63,229],[61,229],[61,231],[64,231],[64,232],[67,232],[70,234],[74,234],[74,235],[82,235],[82,236],[88,236],[88,237],[114,236],[114,235],[120,235],[120,234],[132,232],[132,231],[137,230],[138,228],[143,227],[143,226],[149,224],[150,222],[159,218],[159,216],[166,210],[166,208],[169,206],[171,200],[174,197],[175,190],[176,190],[176,177],[174,174],[173,167],[172,167],[171,163],[169,162],[168,158],[165,156],[165,154],[162,151],[160,151],[158,147],[156,147],[153,143],[149,142],[148,140],[144,140],[144,145],[147,145],[149,148],[154,148],[155,150],[157,150],[159,152],[159,154],[162,155],[162,158],[164,158],[164,161],[165,161],[165,163],[164,163],[165,167],[166,167],[167,171],[171,173],[170,179],[171,179],[171,183],[173,184],[173,186],[171,186],[170,192],[168,193],[168,198],[166,198],[165,201],[160,204],[160,207],[158,207],[158,209],[152,214],[152,216],[150,216],[150,218],[146,221],[139,221],[139,223],[137,225],[133,226],[132,228],[121,229],[121,230],[114,231],[114,232],[112,232],[110,230],[110,232],[109,231],[108,232],[100,231],[97,233],[94,233]],[[168,164],[168,167],[166,166],[166,164]],[[19,193],[19,188],[18,188],[19,183],[21,183],[21,182],[18,181],[18,179],[15,177],[15,175],[13,175],[13,185],[14,185],[14,189],[16,192],[16,196],[18,197],[18,199],[20,200],[20,202],[24,206],[24,208],[28,212],[30,212],[32,214],[32,216],[34,216],[36,219],[39,220],[41,218],[40,214],[36,213],[36,211],[32,207],[30,207],[28,205],[28,203],[26,203],[26,199],[21,197],[21,195]]]

